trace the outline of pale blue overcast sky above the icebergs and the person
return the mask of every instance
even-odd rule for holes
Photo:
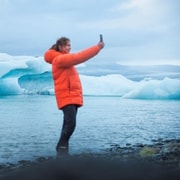
[[[76,52],[102,33],[102,61],[180,65],[179,17],[179,0],[0,0],[0,52],[43,56],[61,36]]]

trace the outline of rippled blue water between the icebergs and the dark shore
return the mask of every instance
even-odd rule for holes
[[[85,97],[70,153],[101,152],[111,144],[180,138],[180,101]],[[0,163],[54,156],[62,112],[54,96],[0,97]]]

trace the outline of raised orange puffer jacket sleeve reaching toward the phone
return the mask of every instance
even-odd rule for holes
[[[90,58],[98,54],[100,50],[101,48],[96,45],[88,49],[82,50],[78,53],[61,54],[54,58],[53,64],[61,68],[71,67],[89,60]]]

